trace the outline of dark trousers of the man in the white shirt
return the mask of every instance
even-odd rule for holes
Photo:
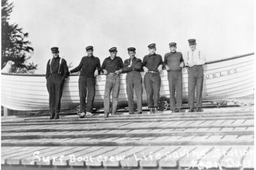
[[[196,107],[202,107],[202,91],[204,84],[204,68],[193,66],[188,69],[188,106],[195,107],[195,88],[196,88]]]

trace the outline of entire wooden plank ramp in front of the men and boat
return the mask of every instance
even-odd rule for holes
[[[1,122],[2,169],[254,169],[254,110]]]

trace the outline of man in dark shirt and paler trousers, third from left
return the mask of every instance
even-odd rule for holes
[[[104,117],[108,118],[109,112],[116,114],[119,88],[120,88],[120,73],[124,66],[122,58],[116,56],[116,47],[109,49],[110,56],[104,59],[102,70],[106,76],[106,85],[104,93]],[[112,111],[110,111],[110,94],[112,91]]]

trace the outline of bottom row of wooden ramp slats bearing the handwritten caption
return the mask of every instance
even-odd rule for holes
[[[42,146],[2,148],[2,164],[253,168],[253,146]]]

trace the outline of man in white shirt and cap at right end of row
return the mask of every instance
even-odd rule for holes
[[[189,39],[188,51],[184,58],[185,66],[188,66],[188,107],[189,112],[195,109],[195,88],[196,88],[196,112],[202,107],[202,91],[204,83],[204,68],[205,56],[202,51],[196,49],[196,40]]]

